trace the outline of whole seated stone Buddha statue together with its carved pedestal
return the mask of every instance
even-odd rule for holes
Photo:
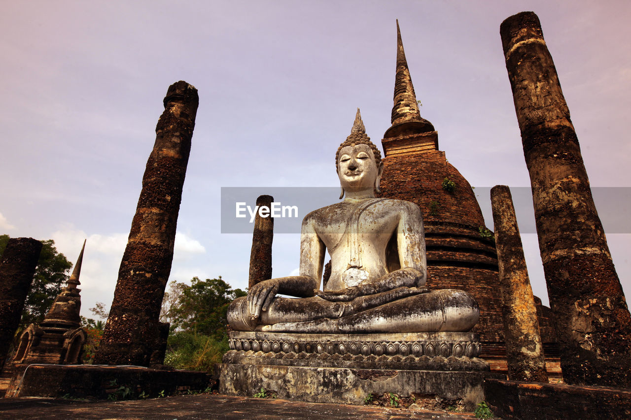
[[[261,281],[228,308],[221,391],[266,388],[353,404],[386,392],[477,402],[490,375],[468,332],[478,305],[465,291],[425,287],[420,209],[375,197],[383,165],[359,110],[336,166],[345,198],[305,216],[300,275]],[[331,274],[321,288],[326,251]]]

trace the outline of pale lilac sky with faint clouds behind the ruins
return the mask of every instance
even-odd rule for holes
[[[86,238],[81,313],[110,306],[162,99],[184,80],[199,108],[170,280],[247,287],[252,238],[221,233],[221,188],[252,187],[251,204],[272,187],[337,188],[334,155],[357,107],[382,149],[397,18],[421,114],[490,209],[481,187],[530,185],[499,35],[520,11],[541,20],[593,189],[616,187],[599,211],[624,219],[627,1],[4,0],[0,234],[53,239],[73,263]],[[532,225],[528,205],[518,212]],[[631,230],[605,228],[628,295]],[[536,234],[522,229],[522,241],[547,303]],[[274,277],[297,271],[299,244],[274,236]]]

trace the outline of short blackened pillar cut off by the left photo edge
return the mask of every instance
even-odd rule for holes
[[[20,325],[41,250],[38,240],[11,238],[0,259],[0,371]]]

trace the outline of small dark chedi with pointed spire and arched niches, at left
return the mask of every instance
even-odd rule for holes
[[[13,356],[15,367],[32,363],[53,363],[57,365],[77,365],[81,363],[83,344],[88,337],[81,327],[81,262],[83,250],[74,264],[68,284],[57,295],[49,312],[40,325],[31,324],[22,333],[20,344]]]

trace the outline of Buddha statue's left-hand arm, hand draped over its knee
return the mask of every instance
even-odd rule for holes
[[[257,283],[247,293],[248,310],[252,318],[259,318],[261,310],[268,310],[274,297],[282,295],[308,298],[320,288],[326,247],[315,233],[309,216],[302,221],[300,234],[300,276],[278,277]]]

